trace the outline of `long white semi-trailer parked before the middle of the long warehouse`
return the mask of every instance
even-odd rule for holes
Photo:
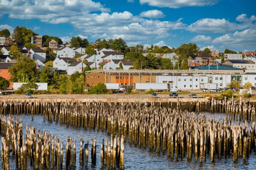
[[[137,90],[169,90],[168,83],[136,83],[135,89]]]

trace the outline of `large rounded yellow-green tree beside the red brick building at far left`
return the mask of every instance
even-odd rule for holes
[[[10,80],[13,82],[32,82],[39,73],[35,61],[25,56],[17,58],[17,63],[9,68],[9,72],[11,74]]]

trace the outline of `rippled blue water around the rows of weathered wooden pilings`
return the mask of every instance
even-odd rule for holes
[[[206,116],[216,116],[216,117],[225,117],[225,114],[207,114]],[[84,130],[83,128],[78,128],[74,126],[67,127],[66,124],[59,124],[56,122],[43,122],[43,118],[40,115],[34,115],[34,121],[31,121],[31,116],[29,115],[19,115],[19,118],[23,122],[23,134],[25,134],[26,123],[31,124],[32,126],[39,128],[41,131],[46,131],[51,135],[58,136],[60,141],[63,141],[63,152],[65,152],[66,139],[67,136],[71,136],[72,140],[76,139],[76,151],[77,151],[77,170],[82,170],[82,167],[79,166],[79,149],[80,149],[80,137],[83,137],[85,140],[89,139],[89,163],[88,170],[99,170],[100,169],[100,145],[102,139],[108,137],[107,133],[97,131],[97,130]],[[97,136],[97,164],[96,166],[91,166],[91,138]],[[65,153],[64,153],[65,155]],[[63,160],[64,161],[64,160]],[[255,169],[256,165],[256,155],[254,152],[250,154],[249,159],[245,162],[242,157],[238,157],[237,163],[233,163],[233,157],[230,155],[227,159],[216,158],[215,163],[211,163],[209,155],[207,155],[205,163],[195,162],[194,156],[192,160],[188,161],[187,158],[171,160],[166,155],[158,154],[156,152],[149,151],[144,148],[137,148],[134,145],[129,144],[128,142],[124,145],[124,166],[126,170],[233,170],[233,169]],[[28,160],[29,166],[29,160]],[[63,163],[64,166],[64,163]],[[15,169],[15,157],[10,156],[10,170]],[[33,167],[28,167],[28,170],[33,170]]]

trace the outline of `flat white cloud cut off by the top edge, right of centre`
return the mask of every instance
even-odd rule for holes
[[[213,5],[218,0],[139,0],[141,4],[147,3],[150,6],[180,8],[185,6]]]

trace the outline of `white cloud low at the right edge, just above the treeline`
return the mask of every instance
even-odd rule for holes
[[[226,47],[247,48],[255,50],[256,30],[246,29],[233,34],[224,34],[213,40],[215,44],[222,44]]]

